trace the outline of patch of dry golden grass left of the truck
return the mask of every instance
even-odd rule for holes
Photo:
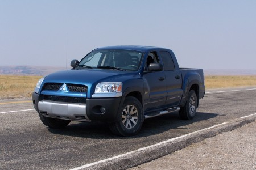
[[[42,76],[0,75],[0,99],[31,98]]]

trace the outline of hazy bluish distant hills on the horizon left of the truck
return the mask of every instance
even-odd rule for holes
[[[68,67],[70,69],[71,67]],[[65,70],[65,67],[47,66],[0,66],[0,74],[10,75],[48,75],[55,71]]]

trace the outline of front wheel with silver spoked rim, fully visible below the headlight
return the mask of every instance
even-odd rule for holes
[[[109,128],[115,135],[131,136],[138,133],[144,121],[142,105],[135,97],[127,97],[123,103],[118,120],[109,124]]]

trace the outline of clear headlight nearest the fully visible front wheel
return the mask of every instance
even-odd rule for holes
[[[98,83],[95,87],[95,94],[92,97],[121,97],[121,82],[103,82]]]

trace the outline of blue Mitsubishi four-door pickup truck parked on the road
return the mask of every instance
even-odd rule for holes
[[[100,120],[116,135],[135,135],[146,118],[179,111],[191,120],[205,94],[203,70],[180,68],[170,49],[108,46],[71,67],[41,78],[32,95],[49,128]]]

